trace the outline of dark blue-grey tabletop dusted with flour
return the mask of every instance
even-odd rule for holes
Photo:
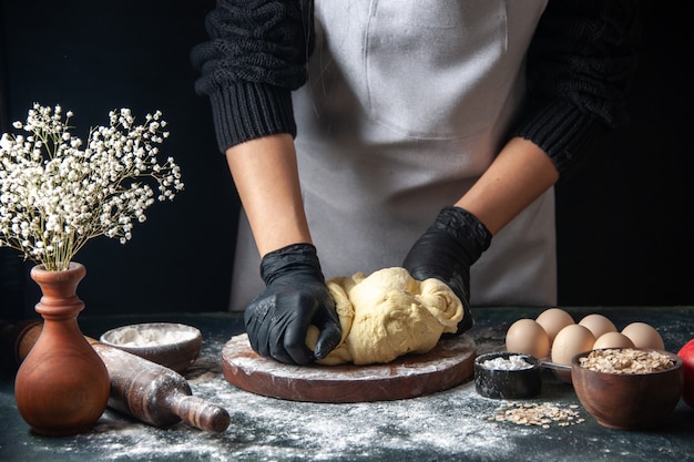
[[[618,328],[653,325],[676,352],[694,338],[694,307],[564,308],[578,321],[591,312]],[[478,308],[468,332],[477,353],[503,350],[508,327],[541,308]],[[0,461],[694,461],[694,410],[683,401],[660,427],[643,431],[601,427],[581,407],[570,384],[545,371],[540,396],[524,403],[579,413],[571,424],[521,425],[496,421],[504,404],[479,396],[472,380],[450,390],[407,400],[312,403],[239,390],[222,373],[222,347],[243,332],[234,314],[80,317],[82,331],[98,338],[137,322],[176,321],[203,332],[203,349],[185,372],[195,396],[224,407],[231,425],[206,433],[184,423],[154,428],[108,409],[89,433],[33,434],[17,411],[12,378],[0,381]]]

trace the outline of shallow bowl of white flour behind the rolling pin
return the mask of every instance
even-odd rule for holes
[[[197,359],[203,337],[192,326],[146,322],[111,329],[100,341],[181,373]]]

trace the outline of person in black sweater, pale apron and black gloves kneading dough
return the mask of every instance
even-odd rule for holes
[[[443,280],[459,332],[470,304],[557,302],[553,185],[624,120],[635,2],[545,3],[218,0],[192,58],[243,205],[232,309],[258,353],[324,358],[324,277],[356,271]]]

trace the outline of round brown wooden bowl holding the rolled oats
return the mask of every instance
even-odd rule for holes
[[[680,401],[683,387],[682,359],[669,351],[633,349],[657,351],[672,359],[674,366],[649,373],[610,373],[581,367],[581,358],[590,351],[579,353],[571,360],[571,377],[576,396],[583,408],[603,427],[627,430],[657,427]]]

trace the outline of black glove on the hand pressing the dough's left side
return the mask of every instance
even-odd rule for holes
[[[272,251],[261,261],[261,276],[265,290],[244,316],[251,347],[289,365],[325,358],[339,343],[341,330],[316,248],[295,244]],[[320,331],[315,351],[305,343],[309,325]]]

